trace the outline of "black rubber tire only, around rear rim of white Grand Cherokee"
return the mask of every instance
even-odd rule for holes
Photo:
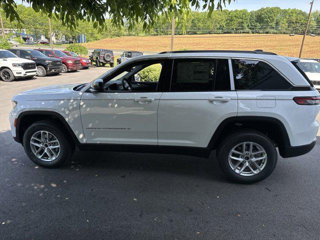
[[[266,152],[267,159],[264,168],[260,172],[255,175],[244,176],[231,169],[231,166],[229,165],[229,152],[237,144],[249,141],[257,143],[263,147]],[[237,131],[225,137],[217,149],[217,160],[221,170],[231,180],[239,183],[254,183],[265,179],[272,173],[277,162],[277,152],[274,144],[265,134],[248,129]]]

